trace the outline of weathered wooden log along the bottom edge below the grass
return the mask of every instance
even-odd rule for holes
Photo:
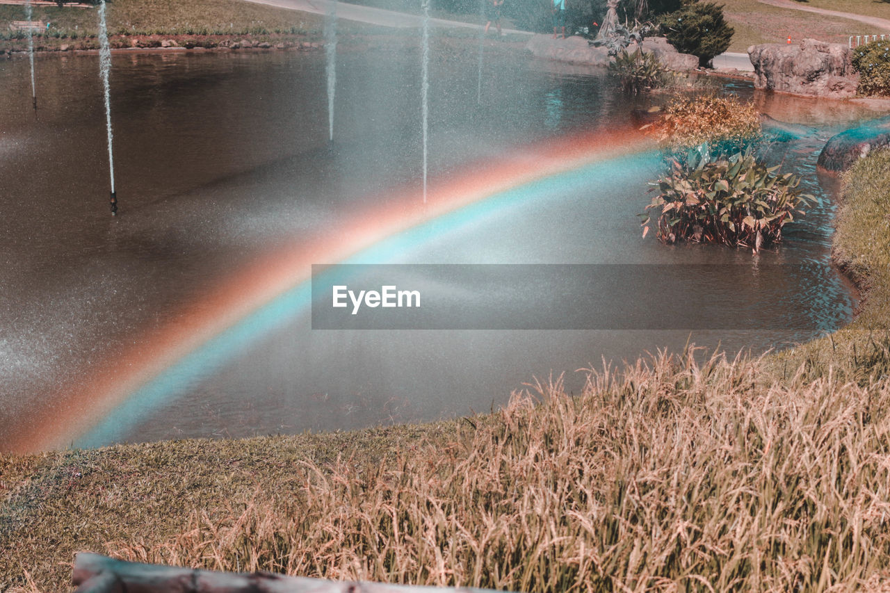
[[[74,558],[75,593],[496,593],[376,582],[325,581],[276,573],[215,573],[125,562],[81,552]]]

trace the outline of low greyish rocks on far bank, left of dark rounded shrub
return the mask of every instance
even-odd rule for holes
[[[607,66],[612,58],[604,47],[594,47],[584,37],[567,37],[554,39],[549,35],[531,37],[525,46],[526,50],[538,58],[566,61],[587,66]],[[635,52],[636,44],[627,47],[628,52]],[[643,52],[653,52],[667,69],[692,70],[698,67],[699,59],[688,53],[679,53],[664,37],[649,37],[643,41]]]

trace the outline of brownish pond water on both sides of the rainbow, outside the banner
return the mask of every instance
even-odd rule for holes
[[[486,55],[477,101],[475,45],[433,48],[431,191],[540,142],[632,124],[635,105],[601,77]],[[108,207],[98,56],[39,59],[36,114],[28,62],[0,62],[0,448],[21,426],[43,430],[36,410],[85,413],[66,401],[71,385],[114,370],[134,341],[188,327],[209,306],[206,295],[257,258],[294,241],[309,249],[338,240],[360,208],[391,214],[397,194],[420,199],[416,48],[344,50],[337,60],[329,143],[323,53],[116,54],[117,218]],[[757,258],[643,240],[635,214],[651,199],[646,182],[659,175],[658,156],[644,152],[545,178],[355,261],[719,264],[722,277],[684,298],[691,310],[728,298],[730,311],[747,305],[750,295],[739,290],[747,274],[781,264],[787,273],[758,290],[773,318],[805,322],[696,330],[692,339],[756,352],[789,345],[851,315],[849,289],[829,264],[834,205],[814,165],[824,141],[853,117],[809,118],[818,121],[803,138],[774,146],[772,158],[803,173],[823,202],[781,248]],[[651,304],[657,319],[659,295],[646,292],[632,297]],[[490,296],[480,288],[468,303]],[[591,327],[597,314],[578,313],[578,327]],[[608,320],[595,330],[312,330],[299,306],[272,325],[237,338],[225,356],[198,353],[188,369],[158,370],[164,386],[95,418],[96,430],[77,443],[293,433],[489,410],[533,377],[565,372],[577,390],[578,369],[682,348],[690,335],[648,321],[609,329]]]

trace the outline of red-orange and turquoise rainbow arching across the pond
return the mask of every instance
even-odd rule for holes
[[[442,224],[479,215],[485,205],[522,199],[525,194],[517,190],[523,187],[651,148],[651,141],[632,129],[574,134],[517,149],[433,183],[426,204],[416,189],[368,200],[338,232],[269,249],[207,290],[198,303],[182,305],[169,316],[179,321],[134,336],[124,352],[106,357],[108,367],[69,386],[55,405],[14,428],[0,450],[27,453],[114,441],[145,410],[174,397],[190,377],[228,360],[256,337],[305,311],[311,299],[312,264],[357,257],[367,263],[381,256],[384,246],[409,247],[417,240],[412,231],[430,236],[444,228]]]

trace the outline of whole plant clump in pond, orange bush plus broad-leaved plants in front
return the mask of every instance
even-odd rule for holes
[[[756,158],[762,139],[756,110],[733,97],[673,102],[650,133],[667,153],[667,175],[645,207],[643,236],[656,215],[659,240],[761,247],[781,240],[813,196],[797,189],[796,175],[781,174]]]

